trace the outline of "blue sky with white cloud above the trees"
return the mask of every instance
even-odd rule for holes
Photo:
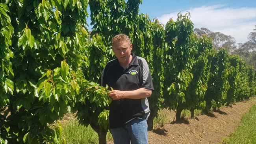
[[[195,28],[231,35],[237,43],[248,41],[256,28],[256,0],[143,0],[139,9],[164,25],[169,18],[176,21],[180,11],[189,11]]]

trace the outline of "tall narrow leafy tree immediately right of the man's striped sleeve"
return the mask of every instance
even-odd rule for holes
[[[152,59],[150,59],[150,69],[154,90],[148,98],[150,116],[148,117],[148,129],[153,130],[153,120],[157,116],[158,110],[161,108],[161,99],[163,97],[163,49],[164,49],[164,30],[158,19],[150,22],[151,35],[154,39],[151,49]]]

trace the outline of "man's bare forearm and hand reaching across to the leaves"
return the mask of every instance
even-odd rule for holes
[[[111,90],[109,92],[109,96],[112,98],[112,100],[119,100],[121,98],[130,98],[130,99],[141,99],[151,96],[152,90],[140,88],[136,90],[127,90],[127,91],[121,91],[121,90]]]

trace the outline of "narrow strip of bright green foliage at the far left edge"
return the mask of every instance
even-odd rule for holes
[[[0,4],[0,8],[0,108],[2,111],[2,108],[9,104],[9,95],[13,94],[14,85],[9,78],[13,77],[14,73],[11,63],[13,51],[9,48],[13,36],[13,26],[8,15],[10,10],[6,4]]]

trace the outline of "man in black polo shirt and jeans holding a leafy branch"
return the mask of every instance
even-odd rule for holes
[[[148,64],[131,53],[132,44],[127,35],[112,39],[112,50],[117,59],[105,66],[101,85],[112,87],[109,92],[110,131],[115,144],[147,144],[147,118],[150,110],[147,97],[154,90]]]

